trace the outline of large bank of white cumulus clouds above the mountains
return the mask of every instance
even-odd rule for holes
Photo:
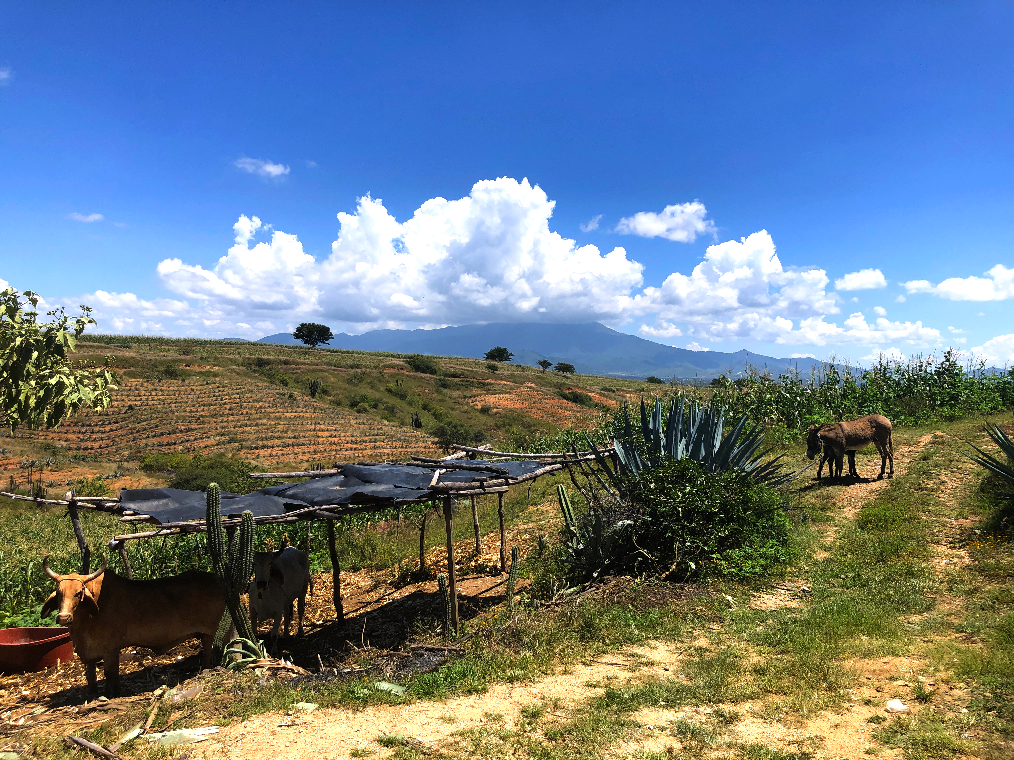
[[[168,258],[158,275],[176,298],[99,291],[85,296],[103,329],[260,337],[300,321],[353,332],[491,321],[640,323],[642,334],[699,341],[868,347],[941,345],[922,322],[861,312],[841,324],[842,298],[824,270],[786,268],[762,230],[708,247],[689,275],[645,287],[622,246],[603,252],[550,229],[555,203],[509,177],[477,182],[464,198],[434,198],[405,222],[379,199],[338,215],[331,254],[316,260],[296,235],[256,216],[233,225],[233,245],[211,268]],[[712,232],[699,201],[623,220],[625,232],[679,241]],[[879,275],[879,272],[876,272]],[[880,276],[882,278],[882,276]],[[869,273],[847,286],[877,287]],[[861,281],[861,282],[860,282]],[[875,282],[877,281],[877,282]],[[685,341],[684,341],[685,343]]]

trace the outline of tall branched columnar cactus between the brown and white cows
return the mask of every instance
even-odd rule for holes
[[[254,573],[254,515],[248,510],[243,513],[236,540],[232,542],[232,546],[226,549],[225,530],[222,528],[222,496],[218,483],[210,483],[207,495],[206,523],[211,565],[218,577],[219,586],[225,594],[225,606],[232,618],[232,623],[236,626],[236,634],[240,638],[256,642],[257,631],[254,630],[249,614],[240,599],[246,590],[250,575]],[[224,637],[222,627],[223,625],[219,625],[219,633]]]

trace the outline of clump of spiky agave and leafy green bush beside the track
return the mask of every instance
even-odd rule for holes
[[[745,413],[730,427],[723,406],[685,396],[664,412],[659,398],[650,410],[642,399],[635,426],[625,406],[611,455],[585,436],[597,466],[579,463],[571,479],[587,513],[575,516],[558,486],[572,581],[630,572],[686,578],[709,561],[729,569],[730,557],[734,572],[751,575],[786,556],[778,489],[806,467],[791,471],[784,454],[770,458],[763,431]],[[760,558],[745,550],[758,542]]]

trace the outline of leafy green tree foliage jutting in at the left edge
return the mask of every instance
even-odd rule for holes
[[[95,324],[91,309],[82,305],[81,316],[73,319],[54,309],[47,312],[54,320],[40,324],[38,305],[30,290],[0,291],[0,416],[11,433],[21,426],[56,428],[82,406],[104,409],[110,391],[117,389],[112,356],[101,367],[67,356],[85,327]]]

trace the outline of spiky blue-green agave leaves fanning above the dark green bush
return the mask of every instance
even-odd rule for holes
[[[700,462],[710,472],[747,472],[753,479],[774,486],[784,485],[802,472],[784,472],[785,465],[779,464],[784,454],[765,462],[771,449],[760,450],[764,433],[757,428],[746,430],[748,422],[748,415],[743,414],[732,426],[728,435],[725,435],[724,407],[687,400],[680,395],[672,398],[669,414],[663,425],[661,399],[655,398],[654,407],[649,414],[642,398],[639,433],[644,444],[644,456],[638,446],[627,405],[624,404],[624,436],[623,439],[612,439],[619,471],[613,471],[606,465],[605,458],[587,435],[585,439],[599,466],[621,496],[624,495],[623,476],[636,476],[645,468],[657,467],[666,459],[692,459]],[[605,485],[604,482],[601,484]]]

